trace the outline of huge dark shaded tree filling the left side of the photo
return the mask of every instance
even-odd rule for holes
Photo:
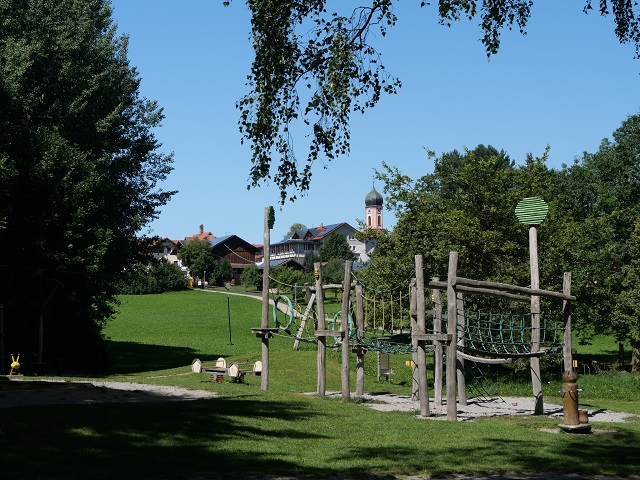
[[[127,43],[105,0],[0,0],[0,302],[27,363],[97,367],[114,279],[173,193]]]

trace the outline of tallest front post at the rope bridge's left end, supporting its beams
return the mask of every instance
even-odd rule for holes
[[[456,291],[454,283],[458,275],[458,252],[449,252],[449,271],[447,273],[447,333],[451,341],[447,346],[447,420],[458,420],[456,405],[456,358],[458,356]]]

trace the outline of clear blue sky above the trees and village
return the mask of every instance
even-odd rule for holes
[[[246,188],[250,152],[240,143],[235,108],[248,91],[253,59],[244,2],[225,8],[222,0],[112,0],[114,21],[130,37],[141,94],[164,107],[157,138],[175,155],[163,188],[179,193],[144,233],[181,240],[204,224],[216,236],[262,243],[268,205],[276,208],[273,241],[296,222],[357,227],[382,162],[417,178],[433,170],[425,148],[440,154],[482,143],[522,163],[527,152],[539,156],[549,145],[548,164],[560,168],[596,151],[640,112],[640,61],[618,43],[612,19],[584,15],[582,1],[536,0],[527,35],[505,32],[490,61],[478,21],[443,27],[434,5],[419,4],[398,1],[398,24],[375,40],[403,82],[399,94],[355,115],[350,155],[326,169],[317,164],[310,192],[280,210],[273,183]],[[304,149],[297,154],[306,157]],[[385,226],[394,224],[386,212]]]

